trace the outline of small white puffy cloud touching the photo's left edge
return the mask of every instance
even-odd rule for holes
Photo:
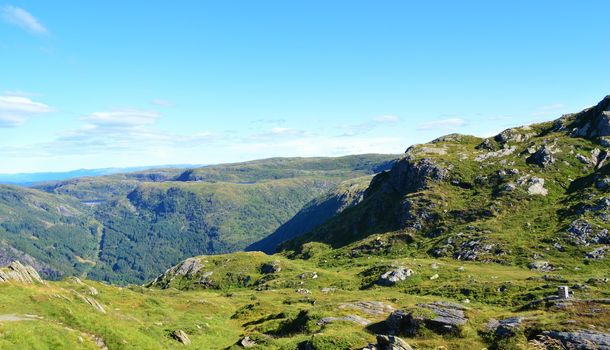
[[[0,128],[16,127],[32,116],[51,111],[51,107],[28,97],[0,96]]]

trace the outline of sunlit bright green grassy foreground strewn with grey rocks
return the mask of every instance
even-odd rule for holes
[[[275,271],[265,269],[269,265]],[[407,266],[413,277],[394,286],[370,283],[376,271],[391,266]],[[610,331],[609,305],[595,302],[610,297],[603,276],[447,258],[373,256],[330,267],[318,254],[307,260],[262,253],[203,256],[147,288],[73,278],[0,283],[0,347],[240,349],[248,337],[254,349],[361,349],[375,342],[375,334],[388,332],[392,310],[424,312],[421,305],[443,301],[464,308],[467,321],[459,336],[425,327],[400,336],[416,349],[534,349],[528,343],[544,331],[583,325]],[[589,301],[530,304],[554,294],[557,284],[589,286],[575,290],[575,297]],[[508,317],[523,318],[513,336],[490,333],[492,319]],[[181,344],[176,331],[191,344]]]

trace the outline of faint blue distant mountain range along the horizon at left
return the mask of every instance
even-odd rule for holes
[[[134,171],[142,171],[148,169],[163,169],[163,168],[195,168],[200,167],[200,164],[171,164],[171,165],[151,165],[140,167],[127,168],[99,168],[99,169],[77,169],[63,172],[39,172],[39,173],[16,173],[16,174],[0,174],[0,184],[11,184],[30,186],[38,182],[45,181],[61,181],[74,179],[77,177],[87,176],[104,176],[121,173],[129,173]]]

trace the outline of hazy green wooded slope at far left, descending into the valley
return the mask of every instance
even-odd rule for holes
[[[45,276],[79,275],[97,258],[101,224],[66,197],[0,185],[0,262],[31,264]]]

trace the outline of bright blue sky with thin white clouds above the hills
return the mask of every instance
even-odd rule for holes
[[[553,119],[610,94],[608,13],[608,1],[0,0],[0,172],[401,153]]]

